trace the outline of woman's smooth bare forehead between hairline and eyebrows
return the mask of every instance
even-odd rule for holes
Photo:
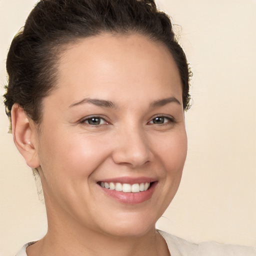
[[[57,83],[54,93],[70,101],[166,96],[182,101],[178,68],[168,48],[139,34],[101,34],[68,44],[60,55]]]

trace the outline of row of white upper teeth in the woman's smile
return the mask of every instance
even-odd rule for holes
[[[135,183],[135,184],[127,184],[127,183],[113,183],[113,182],[100,182],[100,185],[105,188],[109,188],[110,190],[123,191],[123,192],[139,192],[145,191],[148,189],[150,183]]]

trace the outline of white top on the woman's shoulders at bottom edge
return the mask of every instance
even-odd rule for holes
[[[165,239],[171,256],[256,256],[256,248],[232,244],[219,244],[208,241],[191,243],[175,235],[157,230]],[[26,243],[16,256],[27,256],[26,247],[35,243]]]

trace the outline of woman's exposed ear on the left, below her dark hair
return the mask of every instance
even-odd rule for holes
[[[31,168],[37,168],[40,163],[37,156],[36,126],[28,120],[18,104],[13,104],[11,108],[11,127],[14,143],[26,164]]]

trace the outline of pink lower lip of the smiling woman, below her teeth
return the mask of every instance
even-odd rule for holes
[[[125,203],[125,204],[137,204],[137,203],[142,203],[144,201],[147,201],[148,199],[151,198],[154,188],[156,186],[156,183],[157,183],[156,181],[152,182],[150,187],[147,190],[136,192],[136,193],[110,190],[100,185],[99,186],[106,195],[112,197],[118,202]]]

